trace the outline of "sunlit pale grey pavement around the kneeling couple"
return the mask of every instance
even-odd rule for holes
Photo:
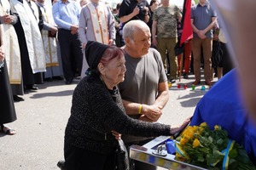
[[[160,122],[178,124],[193,115],[195,105],[208,89],[201,91],[198,86],[192,91],[194,78],[189,77],[180,82],[182,87],[187,83],[188,89],[177,89],[177,83],[170,88],[170,99]],[[45,82],[38,85],[38,92],[26,93],[25,101],[15,103],[18,119],[9,126],[17,133],[14,136],[0,133],[1,170],[59,169],[56,163],[63,159],[64,130],[70,115],[73,89],[78,82],[71,85],[63,81]]]

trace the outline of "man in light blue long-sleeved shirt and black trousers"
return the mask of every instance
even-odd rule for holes
[[[52,8],[58,26],[58,40],[66,84],[71,84],[76,73],[81,72],[83,53],[79,41],[79,3],[72,0],[57,1]]]

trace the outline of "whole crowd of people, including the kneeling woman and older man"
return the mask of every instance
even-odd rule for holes
[[[181,131],[189,119],[179,127],[152,123],[158,121],[169,99],[168,82],[175,83],[178,72],[188,78],[193,70],[193,83],[200,84],[203,59],[205,83],[212,85],[214,26],[214,41],[221,44],[218,51],[222,53],[218,53],[221,58],[228,55],[217,13],[207,0],[199,0],[191,8],[194,33],[184,43],[184,70],[174,51],[183,10],[169,0],[123,0],[115,9],[99,0],[1,0],[0,8],[4,32],[0,35],[0,60],[4,61],[0,82],[6,85],[1,101],[9,104],[0,114],[2,132],[15,134],[3,124],[15,121],[14,101],[24,100],[19,96],[24,90],[38,90],[36,85],[44,81],[71,84],[74,78],[81,78],[65,132],[65,165],[59,164],[63,169],[96,164],[102,166],[97,169],[112,168],[114,162],[109,158],[119,133],[124,134],[122,139],[129,148],[160,134]],[[220,63],[216,67],[227,68]],[[220,69],[218,75],[220,78]],[[102,164],[95,163],[94,156],[101,156]],[[81,161],[84,158],[92,161]],[[156,169],[130,162],[137,170]]]

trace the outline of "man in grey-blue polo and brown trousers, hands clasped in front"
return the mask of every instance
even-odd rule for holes
[[[212,28],[215,26],[217,13],[207,0],[200,0],[191,8],[191,25],[193,28],[192,51],[194,73],[197,85],[201,83],[201,47],[204,59],[204,78],[206,85],[212,86]]]

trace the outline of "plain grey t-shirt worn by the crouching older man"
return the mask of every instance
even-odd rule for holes
[[[162,63],[160,53],[154,48],[149,48],[148,54],[142,58],[132,58],[125,54],[125,81],[119,83],[119,93],[122,99],[153,105],[158,95],[158,84],[166,82],[166,71]],[[132,115],[138,118],[140,115]],[[144,140],[146,138],[136,138],[131,136],[122,136],[125,143]]]

